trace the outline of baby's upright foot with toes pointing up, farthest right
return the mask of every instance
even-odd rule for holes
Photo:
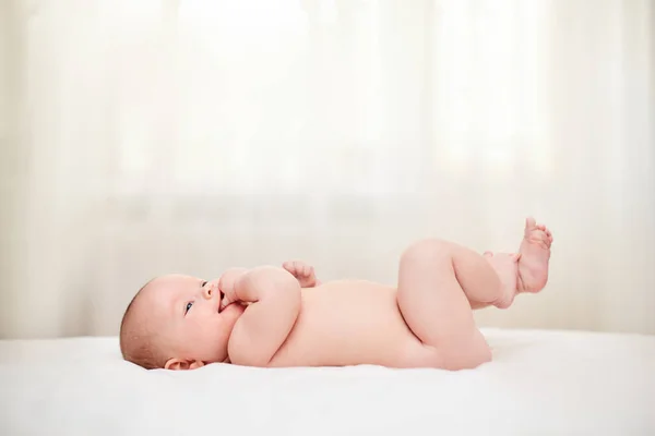
[[[546,226],[537,225],[534,218],[525,220],[525,233],[519,259],[519,292],[539,292],[548,281],[548,261],[550,259],[552,234]]]

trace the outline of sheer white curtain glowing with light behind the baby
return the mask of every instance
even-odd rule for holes
[[[116,335],[153,276],[556,242],[483,326],[655,334],[650,0],[0,2],[2,338]]]

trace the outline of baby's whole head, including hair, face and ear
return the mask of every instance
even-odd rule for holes
[[[148,281],[128,306],[120,326],[127,361],[146,370],[193,370],[227,360],[227,342],[245,308],[219,312],[218,279],[182,275]]]

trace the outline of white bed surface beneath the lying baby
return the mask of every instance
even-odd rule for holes
[[[655,435],[655,337],[484,330],[476,370],[145,371],[117,338],[0,341],[2,435]]]

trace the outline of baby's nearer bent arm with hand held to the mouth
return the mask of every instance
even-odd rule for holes
[[[251,303],[229,338],[230,362],[266,366],[296,323],[300,283],[283,268],[259,267],[237,279],[230,300]]]

